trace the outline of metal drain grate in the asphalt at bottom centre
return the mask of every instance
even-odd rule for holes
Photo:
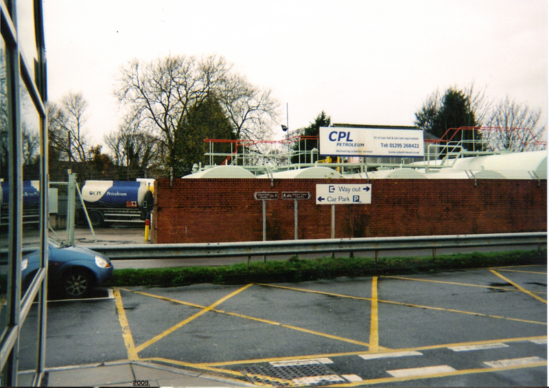
[[[254,384],[268,384],[275,387],[347,383],[347,380],[329,367],[313,360],[247,365],[240,367],[240,371]]]

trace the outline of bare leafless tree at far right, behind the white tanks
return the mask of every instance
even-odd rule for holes
[[[541,110],[517,103],[507,96],[493,106],[484,131],[487,149],[533,151],[544,147],[546,124],[539,122]]]

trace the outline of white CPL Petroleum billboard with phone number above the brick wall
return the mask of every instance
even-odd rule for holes
[[[320,127],[320,155],[423,157],[423,131]]]

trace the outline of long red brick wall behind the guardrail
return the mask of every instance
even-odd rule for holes
[[[366,180],[337,180],[366,183]],[[261,241],[259,191],[266,201],[267,240],[294,239],[294,200],[283,191],[309,191],[298,201],[299,239],[329,239],[331,206],[316,205],[319,179],[156,180],[151,239],[154,243]],[[545,232],[547,180],[375,180],[372,203],[336,205],[336,238]]]

